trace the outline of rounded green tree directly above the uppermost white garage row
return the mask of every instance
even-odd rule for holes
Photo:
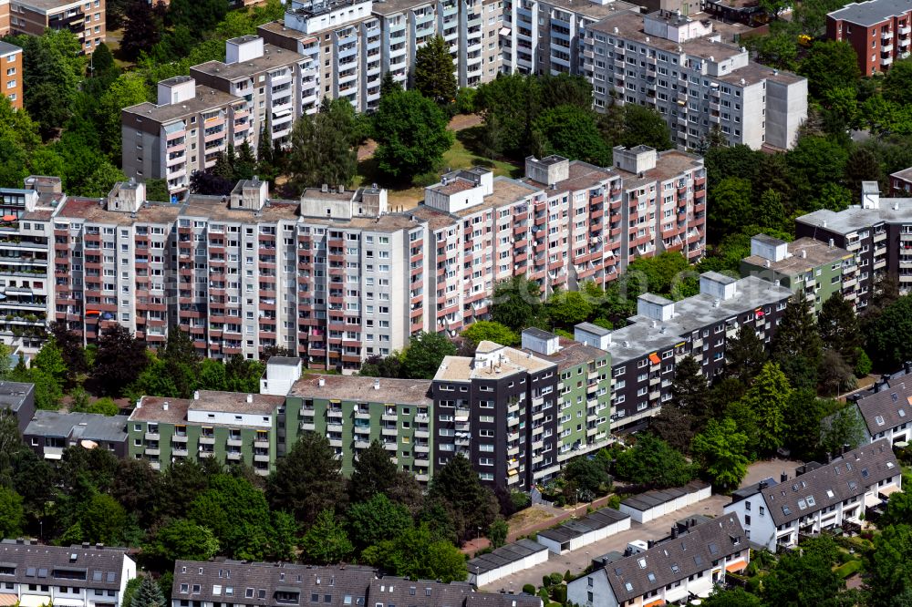
[[[614,472],[637,485],[666,489],[689,483],[694,470],[680,451],[660,438],[642,434],[633,447],[617,454]]]

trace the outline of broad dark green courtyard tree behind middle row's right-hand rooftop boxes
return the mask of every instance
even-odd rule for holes
[[[545,109],[533,122],[539,140],[538,154],[557,154],[598,166],[611,164],[611,149],[596,128],[591,109],[574,105]]]

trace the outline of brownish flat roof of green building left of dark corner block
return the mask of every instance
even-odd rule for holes
[[[320,380],[323,386],[320,386]],[[374,386],[379,386],[375,389]],[[288,396],[327,398],[397,405],[431,406],[430,379],[393,379],[367,376],[306,374],[295,382]]]

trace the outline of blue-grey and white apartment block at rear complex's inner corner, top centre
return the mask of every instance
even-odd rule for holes
[[[639,12],[623,0],[506,0],[503,2],[503,71],[580,74],[587,27],[617,12]]]

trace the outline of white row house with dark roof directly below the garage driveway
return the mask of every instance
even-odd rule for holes
[[[733,515],[684,520],[658,541],[634,541],[624,554],[600,561],[567,584],[580,607],[686,604],[706,598],[751,561],[747,534]],[[617,553],[616,553],[617,554]]]

